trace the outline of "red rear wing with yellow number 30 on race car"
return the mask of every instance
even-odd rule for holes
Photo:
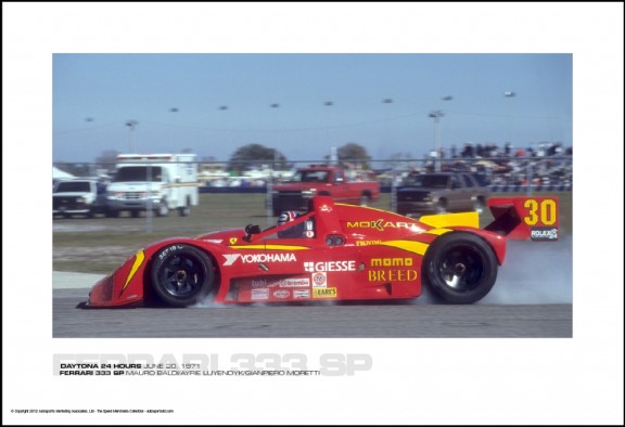
[[[558,197],[493,197],[487,205],[495,219],[484,230],[522,241],[558,241]]]

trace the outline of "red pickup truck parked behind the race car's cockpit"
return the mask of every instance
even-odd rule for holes
[[[339,167],[312,165],[301,168],[288,182],[273,186],[273,216],[285,210],[307,210],[308,202],[316,195],[330,196],[336,203],[367,206],[380,197],[380,184],[352,181]]]

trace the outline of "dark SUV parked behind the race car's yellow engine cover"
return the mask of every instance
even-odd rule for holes
[[[397,189],[397,214],[420,216],[474,210],[482,214],[488,186],[472,173],[412,174]]]

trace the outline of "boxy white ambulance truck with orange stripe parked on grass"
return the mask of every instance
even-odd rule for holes
[[[115,176],[106,189],[106,215],[154,211],[166,217],[178,209],[191,214],[199,202],[197,164],[194,154],[119,154]]]

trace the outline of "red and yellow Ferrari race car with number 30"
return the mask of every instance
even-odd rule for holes
[[[98,282],[88,307],[406,299],[430,286],[448,303],[483,298],[507,238],[558,240],[557,197],[490,198],[476,212],[419,220],[361,206],[310,200],[266,230],[247,225],[156,242]]]

